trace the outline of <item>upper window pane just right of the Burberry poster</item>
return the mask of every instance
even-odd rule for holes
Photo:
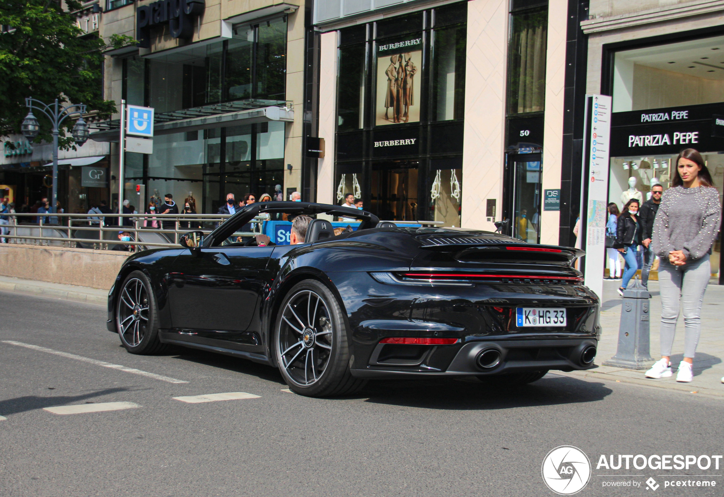
[[[466,27],[433,31],[431,121],[462,119],[465,109]]]

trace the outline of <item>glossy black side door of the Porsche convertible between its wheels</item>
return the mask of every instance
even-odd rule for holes
[[[258,344],[258,336],[246,330],[256,314],[273,250],[202,247],[196,254],[189,250],[179,255],[168,288],[172,326],[185,335],[181,339],[229,342],[222,347]]]

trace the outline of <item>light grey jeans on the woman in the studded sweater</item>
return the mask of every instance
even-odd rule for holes
[[[662,356],[671,355],[681,299],[684,323],[683,357],[694,358],[699,335],[702,334],[702,300],[710,277],[708,254],[683,266],[674,266],[668,260],[660,260]]]

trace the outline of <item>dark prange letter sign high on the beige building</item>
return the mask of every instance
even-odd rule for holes
[[[151,48],[151,28],[168,24],[173,38],[191,38],[193,20],[203,14],[204,0],[159,0],[136,9],[136,38]]]

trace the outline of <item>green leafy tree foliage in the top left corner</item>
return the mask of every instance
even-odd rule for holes
[[[106,43],[86,34],[72,14],[80,7],[76,0],[0,0],[1,134],[20,132],[29,96],[49,104],[56,98],[62,103],[85,103],[101,118],[114,112],[114,101],[103,99],[103,52],[135,40],[114,35]],[[35,116],[41,122],[41,135],[35,141],[51,140],[49,122],[40,112]],[[63,122],[64,148],[72,145],[73,124],[71,119]]]

